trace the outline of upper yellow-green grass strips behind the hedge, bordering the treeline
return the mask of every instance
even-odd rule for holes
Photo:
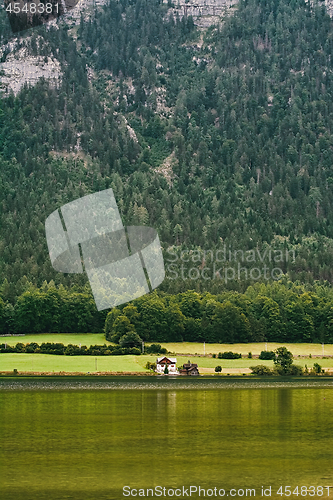
[[[17,342],[61,342],[65,345],[68,344],[82,344],[86,346],[94,344],[110,344],[105,340],[104,333],[40,333],[28,334],[20,337],[0,337],[0,343],[7,342],[8,345],[15,345]],[[177,342],[177,343],[162,343],[168,351],[175,354],[218,354],[224,351],[239,352],[243,355],[248,355],[252,352],[253,355],[259,355],[261,351],[274,351],[277,347],[285,346],[293,353],[295,358],[297,356],[333,356],[333,344],[325,344],[324,349],[322,344],[275,344],[275,343],[253,343],[253,344],[199,344],[196,342]]]

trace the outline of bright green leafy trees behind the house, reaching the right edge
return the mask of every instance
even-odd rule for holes
[[[106,338],[154,342],[333,342],[333,294],[322,286],[257,284],[244,294],[152,293],[109,312]]]

